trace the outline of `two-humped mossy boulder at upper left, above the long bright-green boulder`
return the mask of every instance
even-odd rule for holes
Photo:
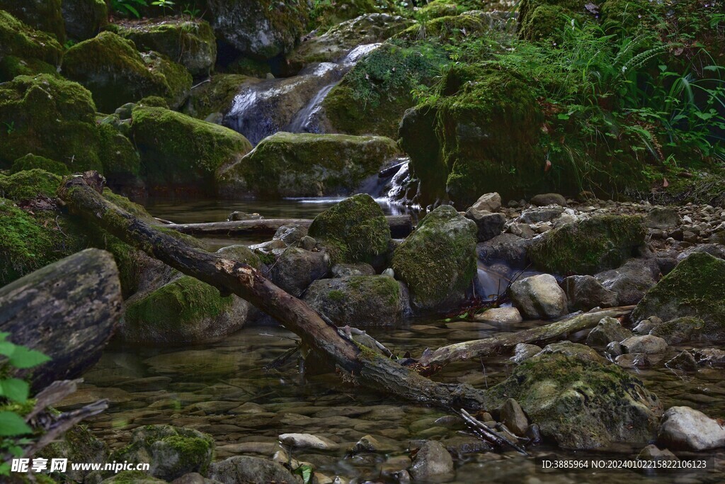
[[[68,49],[63,74],[86,86],[101,112],[146,96],[160,96],[179,107],[191,90],[191,75],[183,66],[160,54],[142,56],[133,42],[112,32]]]

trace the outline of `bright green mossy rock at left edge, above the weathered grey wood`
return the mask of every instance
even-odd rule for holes
[[[86,247],[83,228],[57,210],[31,213],[0,198],[0,286]]]

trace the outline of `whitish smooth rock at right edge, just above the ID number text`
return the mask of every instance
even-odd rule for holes
[[[725,425],[701,411],[674,406],[662,416],[657,443],[687,451],[725,447]]]

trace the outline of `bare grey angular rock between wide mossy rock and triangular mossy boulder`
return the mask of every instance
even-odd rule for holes
[[[656,283],[659,267],[653,259],[629,259],[623,266],[600,272],[597,281],[616,293],[621,305],[637,304]]]

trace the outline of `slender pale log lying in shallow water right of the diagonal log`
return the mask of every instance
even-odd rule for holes
[[[485,338],[483,340],[465,341],[453,345],[442,346],[437,350],[426,350],[415,363],[416,369],[423,374],[432,374],[453,361],[481,358],[500,352],[503,348],[511,348],[518,343],[542,343],[547,340],[563,337],[582,329],[595,327],[602,318],[616,318],[631,313],[634,306],[621,306],[573,316],[563,321],[546,324],[523,331]]]

